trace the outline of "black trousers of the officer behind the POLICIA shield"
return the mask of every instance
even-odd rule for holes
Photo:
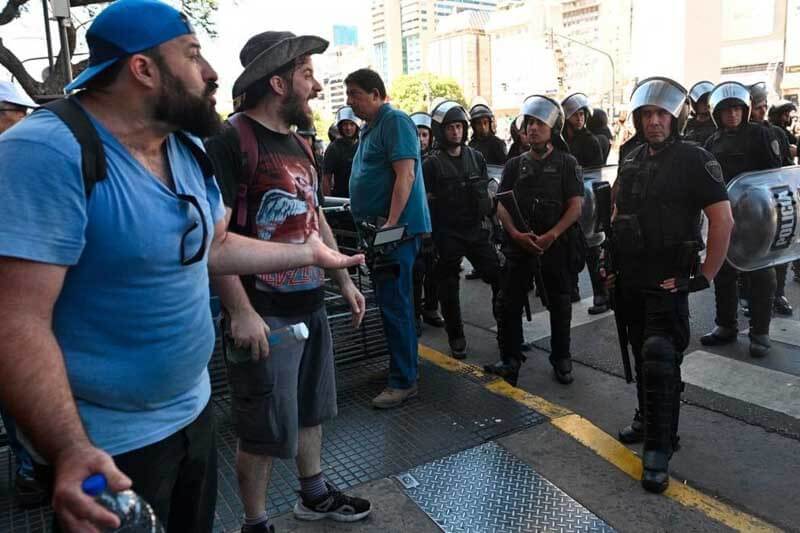
[[[739,272],[728,263],[724,263],[714,278],[717,325],[734,330],[738,329],[739,287],[736,283],[737,276],[744,276],[748,286],[750,331],[754,335],[768,335],[776,287],[774,268],[763,268],[753,272]]]

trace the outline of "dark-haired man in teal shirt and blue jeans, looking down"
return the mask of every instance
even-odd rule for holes
[[[414,122],[386,103],[386,87],[377,72],[369,69],[352,72],[345,85],[347,105],[366,122],[350,174],[353,218],[357,223],[404,224],[407,235],[415,237],[391,254],[398,267],[397,276],[375,279],[375,294],[391,357],[388,386],[372,400],[372,405],[389,409],[417,395],[412,271],[420,236],[431,231],[431,218]]]

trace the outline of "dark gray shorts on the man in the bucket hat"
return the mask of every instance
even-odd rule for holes
[[[308,315],[264,317],[270,329],[305,322],[308,340],[270,346],[267,359],[228,362],[231,414],[245,452],[291,459],[299,427],[336,416],[333,342],[325,308]]]

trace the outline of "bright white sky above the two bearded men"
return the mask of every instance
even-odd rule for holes
[[[0,0],[0,6],[6,3],[7,0]],[[179,4],[176,0],[171,0],[171,3]],[[76,25],[89,20],[83,9],[76,8],[72,12]],[[369,0],[219,0],[219,9],[214,16],[217,37],[212,39],[207,35],[199,35],[203,53],[219,75],[218,108],[224,111],[230,107],[231,88],[242,71],[239,51],[251,36],[267,30],[288,30],[298,35],[314,34],[330,40],[333,26],[343,24],[358,27],[359,43],[369,45],[369,16]],[[39,0],[31,0],[25,14],[0,28],[3,44],[20,59],[46,55]],[[54,48],[57,51],[56,29],[53,24]],[[79,33],[77,52],[86,51],[83,35],[83,32]],[[47,61],[32,60],[26,66],[35,78],[41,79],[40,73],[47,66]],[[11,74],[0,67],[0,80],[10,79]]]

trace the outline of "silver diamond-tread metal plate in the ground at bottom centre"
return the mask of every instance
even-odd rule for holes
[[[494,442],[407,472],[406,494],[450,532],[612,532],[561,489]]]

